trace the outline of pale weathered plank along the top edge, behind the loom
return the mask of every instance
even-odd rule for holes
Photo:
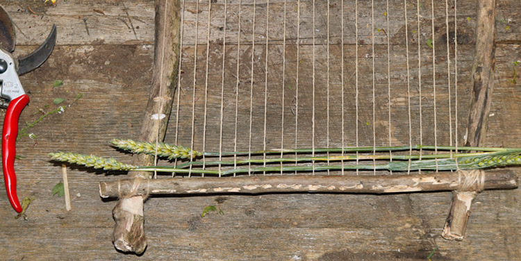
[[[243,3],[244,8],[242,12],[242,26],[241,37],[242,42],[251,42],[251,18],[253,15],[253,2]],[[430,1],[421,1],[420,14],[422,15],[422,32],[425,39],[429,39],[430,35],[430,17],[431,5]],[[265,2],[257,3],[256,9],[256,36],[258,42],[263,42],[263,35],[265,35]],[[359,37],[364,42],[369,42],[371,31],[367,30],[370,21],[370,6],[365,3],[359,3]],[[199,42],[206,42],[206,25],[208,19],[208,3],[201,2],[198,14],[199,18]],[[497,40],[498,42],[516,42],[519,40],[520,30],[515,26],[515,21],[521,16],[519,10],[520,3],[515,1],[499,1],[498,19],[497,19]],[[18,44],[31,44],[41,42],[45,37],[52,23],[58,25],[58,44],[136,44],[140,42],[151,43],[154,41],[154,4],[150,1],[81,1],[78,3],[60,3],[56,6],[45,6],[43,3],[37,1],[6,1],[3,3],[4,8],[10,12],[13,21],[18,28]],[[28,10],[27,6],[35,12],[33,14]],[[331,1],[331,37],[333,42],[339,42],[340,37],[340,2]],[[383,12],[386,12],[385,1],[375,1],[375,28],[386,28],[386,17]],[[468,28],[473,31],[476,21],[476,13],[474,12],[475,1],[461,1],[458,3],[458,26],[461,30]],[[286,6],[287,12],[287,37],[293,42],[297,38],[297,3],[296,1],[288,1]],[[312,36],[311,22],[312,19],[312,5],[310,1],[301,2],[301,38],[303,44],[311,44],[310,37]],[[316,28],[325,28],[326,26],[326,3],[317,3],[317,12],[315,15],[317,24]],[[436,3],[435,5],[436,24],[440,24],[440,30],[445,28],[445,5],[443,3]],[[103,14],[95,11],[101,11]],[[186,1],[185,3],[185,39],[187,44],[193,42],[195,39],[195,19],[196,6],[193,1]],[[213,15],[210,19],[210,37],[211,41],[222,41],[222,30],[224,27],[224,3],[221,1],[213,3]],[[238,1],[229,1],[228,10],[230,14],[237,15]],[[282,1],[270,1],[270,23],[281,24],[283,17]],[[345,15],[345,40],[346,43],[352,44],[354,42],[354,2],[347,2],[344,5]],[[399,31],[397,39],[403,41],[404,39],[404,10],[402,1],[390,1],[390,10],[388,13],[390,17],[390,35],[396,35]],[[449,15],[452,17],[454,12],[451,8]],[[411,30],[416,26],[416,8],[415,3],[408,4],[408,20],[410,20]],[[453,26],[454,20],[451,18],[449,26]],[[234,43],[237,40],[237,26],[236,18],[229,16],[226,22],[228,28],[226,42]],[[507,27],[508,26],[508,27]],[[370,27],[370,26],[369,26]],[[412,32],[412,31],[411,31]],[[315,32],[317,43],[324,44],[326,41],[326,30],[322,29]],[[386,42],[385,33],[383,31],[375,32],[375,39],[377,44],[384,44]],[[282,40],[282,31],[280,26],[272,26],[270,29],[270,40]],[[462,39],[460,39],[462,40]],[[192,43],[193,44],[193,43]]]

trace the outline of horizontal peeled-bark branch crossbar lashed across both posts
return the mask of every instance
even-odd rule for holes
[[[518,187],[510,169],[379,176],[244,176],[234,178],[124,179],[99,184],[103,198],[135,195],[329,192],[388,194],[504,190]]]

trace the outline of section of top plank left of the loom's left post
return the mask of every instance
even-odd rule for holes
[[[42,42],[52,24],[58,28],[58,45],[154,42],[151,1],[58,1],[49,6],[29,0],[6,1],[2,6],[16,24],[17,44]]]

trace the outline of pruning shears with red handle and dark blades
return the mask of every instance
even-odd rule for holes
[[[22,212],[22,206],[16,193],[16,140],[18,136],[18,120],[20,113],[29,103],[29,96],[24,91],[18,76],[33,71],[51,55],[56,44],[56,25],[38,49],[22,58],[14,58],[16,34],[13,21],[6,10],[0,6],[0,103],[7,104],[6,117],[2,130],[2,168],[6,182],[9,202],[16,210]]]

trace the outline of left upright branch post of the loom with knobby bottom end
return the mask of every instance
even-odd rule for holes
[[[176,76],[179,65],[179,0],[156,0],[156,33],[154,44],[154,75],[147,108],[144,112],[139,140],[160,142],[165,138],[167,122],[172,110],[172,98],[176,89]],[[138,154],[133,156],[133,165],[154,165],[154,156]],[[131,172],[129,177],[135,184],[140,180],[152,178],[149,172]],[[143,253],[147,248],[144,234],[144,197],[131,192],[119,195],[113,209],[115,227],[113,243],[123,252]]]

